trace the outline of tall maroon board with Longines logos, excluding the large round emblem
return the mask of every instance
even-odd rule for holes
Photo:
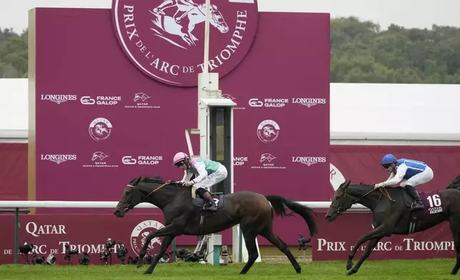
[[[299,181],[328,184],[329,14],[259,13],[249,53],[219,84],[224,98],[238,104],[234,154],[247,159],[235,166],[235,191],[279,194],[283,184],[289,188],[281,194],[297,200],[326,197],[327,189]],[[196,87],[163,84],[134,66],[114,34],[110,9],[36,9],[36,199],[117,201],[135,176],[181,179],[171,159],[187,151],[184,129],[197,126],[196,95]],[[299,129],[299,119],[308,129]],[[258,136],[266,120],[279,125],[267,143]],[[106,131],[97,134],[92,122],[105,123]],[[194,151],[198,146],[196,139]],[[150,158],[124,164],[125,156],[126,163],[148,156],[154,164]],[[55,158],[66,161],[49,160]]]

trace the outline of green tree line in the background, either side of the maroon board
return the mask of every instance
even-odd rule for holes
[[[0,78],[26,78],[27,59],[27,30],[0,28]],[[331,83],[460,84],[460,28],[331,19]]]

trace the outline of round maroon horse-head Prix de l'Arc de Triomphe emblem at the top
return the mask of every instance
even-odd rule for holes
[[[116,37],[144,74],[174,86],[196,86],[204,69],[205,0],[113,0]],[[225,76],[256,35],[257,0],[211,0],[209,71]]]

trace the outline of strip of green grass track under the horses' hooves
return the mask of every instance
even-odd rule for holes
[[[345,261],[299,262],[302,274],[296,274],[290,264],[256,263],[246,275],[239,275],[244,264],[211,266],[197,263],[159,264],[154,273],[144,275],[147,266],[136,269],[133,265],[113,266],[42,266],[4,265],[0,266],[0,279],[17,280],[103,280],[103,279],[247,279],[247,280],[291,280],[291,279],[456,279],[450,275],[454,259],[432,259],[420,261],[365,261],[357,274],[344,276]]]

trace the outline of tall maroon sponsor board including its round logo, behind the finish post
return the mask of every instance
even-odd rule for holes
[[[193,104],[204,24],[196,21],[182,37],[154,21],[161,17],[181,25],[190,16],[199,19],[204,0],[196,2],[196,13],[175,14],[177,7],[166,2],[119,0],[112,9],[37,9],[37,200],[118,201],[137,176],[182,178],[172,157],[188,151],[184,130],[197,126]],[[321,187],[329,186],[329,14],[259,16],[256,1],[221,1],[213,4],[211,18],[210,65],[219,72],[222,98],[237,104],[234,157],[240,160],[235,162],[234,190],[300,201],[329,198],[329,189]],[[295,24],[286,29],[286,22]],[[284,39],[276,41],[273,34],[284,34]],[[81,46],[82,41],[91,44]],[[50,64],[59,71],[51,71]],[[281,82],[286,80],[291,82]],[[259,103],[249,99],[264,105],[251,106]],[[191,141],[199,151],[199,137]],[[307,178],[308,184],[299,184]],[[39,214],[110,211],[37,209]]]

